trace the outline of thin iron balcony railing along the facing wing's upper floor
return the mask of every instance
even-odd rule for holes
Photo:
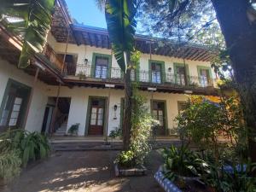
[[[118,81],[123,79],[123,73],[119,67],[92,67],[84,64],[69,64],[64,69],[65,75],[79,77],[79,79]],[[177,85],[190,87],[212,87],[214,79],[207,77],[188,76],[183,74],[161,73],[155,71],[132,71],[131,80],[154,85]]]

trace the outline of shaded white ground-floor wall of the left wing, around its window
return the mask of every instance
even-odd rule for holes
[[[0,59],[0,102],[3,101],[3,94],[9,79],[14,79],[21,84],[32,87],[33,77],[24,73],[14,65]],[[41,131],[44,109],[47,103],[46,84],[38,81],[34,96],[32,96],[32,104],[29,109],[28,119],[26,122],[27,131]]]

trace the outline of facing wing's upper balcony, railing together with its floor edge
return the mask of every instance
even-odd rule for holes
[[[92,67],[84,64],[71,64],[64,68],[63,73],[69,83],[76,82],[79,85],[87,84],[92,87],[93,84],[104,85],[110,83],[116,84],[122,89],[124,87],[123,72],[119,67]],[[182,74],[134,70],[131,73],[131,80],[137,80],[143,90],[153,87],[164,92],[193,90],[193,92],[199,94],[205,94],[207,91],[206,95],[217,95],[214,88],[215,80],[206,77],[188,76],[185,79]]]

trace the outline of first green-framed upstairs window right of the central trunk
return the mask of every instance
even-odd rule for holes
[[[148,61],[149,82],[161,84],[166,82],[165,61]]]

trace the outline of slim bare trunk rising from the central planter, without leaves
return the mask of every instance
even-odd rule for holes
[[[125,73],[125,114],[123,120],[123,147],[127,151],[131,143],[131,107],[132,107],[132,86],[131,68],[127,68]]]

